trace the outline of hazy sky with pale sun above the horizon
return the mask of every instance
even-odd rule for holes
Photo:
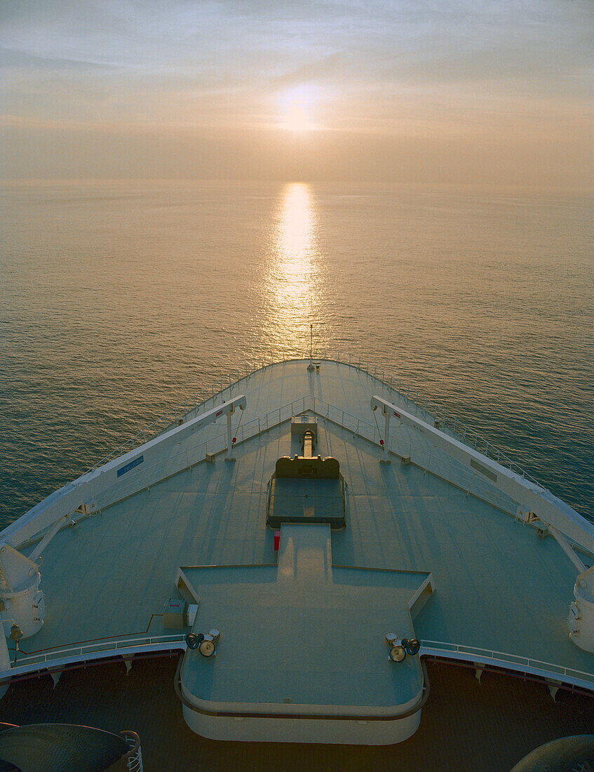
[[[2,176],[592,182],[593,0],[0,0]]]

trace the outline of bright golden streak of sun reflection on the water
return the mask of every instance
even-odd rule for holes
[[[275,233],[275,260],[269,280],[274,308],[270,327],[278,343],[299,342],[315,304],[315,278],[319,252],[316,217],[309,185],[292,183],[282,191]]]

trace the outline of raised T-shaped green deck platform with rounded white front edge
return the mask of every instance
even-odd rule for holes
[[[224,740],[395,743],[416,730],[418,656],[392,662],[386,633],[414,637],[409,601],[427,574],[332,566],[326,525],[283,525],[278,566],[183,567],[199,602],[193,632],[221,631],[216,654],[188,651],[184,716]],[[241,721],[238,721],[241,719]],[[330,724],[329,724],[330,722]]]

